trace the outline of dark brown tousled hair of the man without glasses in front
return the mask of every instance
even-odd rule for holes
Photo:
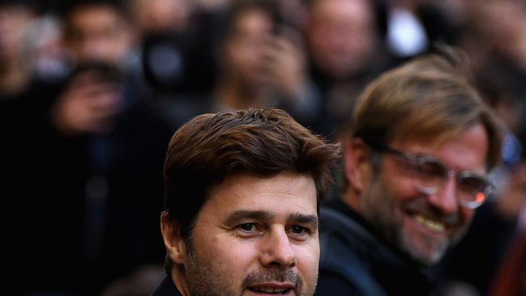
[[[164,209],[174,231],[188,240],[199,210],[226,177],[308,175],[319,204],[332,182],[340,145],[312,134],[283,110],[249,109],[202,114],[173,135],[164,163]],[[165,269],[171,262],[166,258]]]

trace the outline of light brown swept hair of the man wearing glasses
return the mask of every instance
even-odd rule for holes
[[[488,169],[501,160],[502,124],[471,83],[466,57],[453,47],[387,71],[364,90],[353,114],[353,137],[386,145],[397,139],[443,143],[475,123],[488,135]]]

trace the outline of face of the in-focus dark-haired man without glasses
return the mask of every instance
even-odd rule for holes
[[[187,249],[192,296],[312,295],[319,260],[314,180],[227,177],[199,212]]]

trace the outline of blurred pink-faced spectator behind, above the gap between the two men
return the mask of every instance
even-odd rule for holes
[[[308,1],[305,36],[312,77],[323,95],[321,131],[336,138],[365,84],[392,62],[379,28],[376,1]]]

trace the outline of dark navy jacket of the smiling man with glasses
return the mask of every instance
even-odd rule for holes
[[[381,242],[342,201],[322,207],[320,221],[315,295],[434,295],[425,271]]]

